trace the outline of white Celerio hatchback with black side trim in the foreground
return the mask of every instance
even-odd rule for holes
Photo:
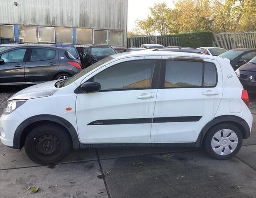
[[[204,146],[229,159],[250,136],[249,98],[224,58],[184,52],[111,55],[68,80],[7,100],[0,139],[40,164],[71,148]]]

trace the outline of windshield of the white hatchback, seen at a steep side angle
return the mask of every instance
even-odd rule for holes
[[[90,71],[94,70],[95,68],[98,68],[99,66],[105,64],[106,62],[111,61],[112,58],[111,56],[108,56],[106,58],[101,59],[98,62],[95,62],[93,65],[89,66],[88,68],[83,69],[82,71],[80,71],[79,73],[77,73],[76,75],[72,76],[71,78],[69,78],[63,86],[67,86],[71,83],[73,83],[74,81],[76,81],[78,78],[81,78],[82,76],[86,75],[87,73],[89,73]]]

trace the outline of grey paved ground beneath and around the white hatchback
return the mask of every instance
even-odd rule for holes
[[[0,104],[22,88],[0,88]],[[232,159],[194,148],[80,149],[48,167],[0,143],[0,198],[256,198],[256,94],[249,97],[252,135]]]

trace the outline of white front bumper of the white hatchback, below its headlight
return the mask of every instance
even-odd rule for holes
[[[17,111],[0,117],[0,140],[5,146],[13,147],[13,137],[17,127],[24,121]]]

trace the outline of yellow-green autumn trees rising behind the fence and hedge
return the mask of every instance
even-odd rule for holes
[[[256,0],[176,0],[173,9],[159,3],[150,11],[146,19],[136,22],[136,33],[256,30]]]

